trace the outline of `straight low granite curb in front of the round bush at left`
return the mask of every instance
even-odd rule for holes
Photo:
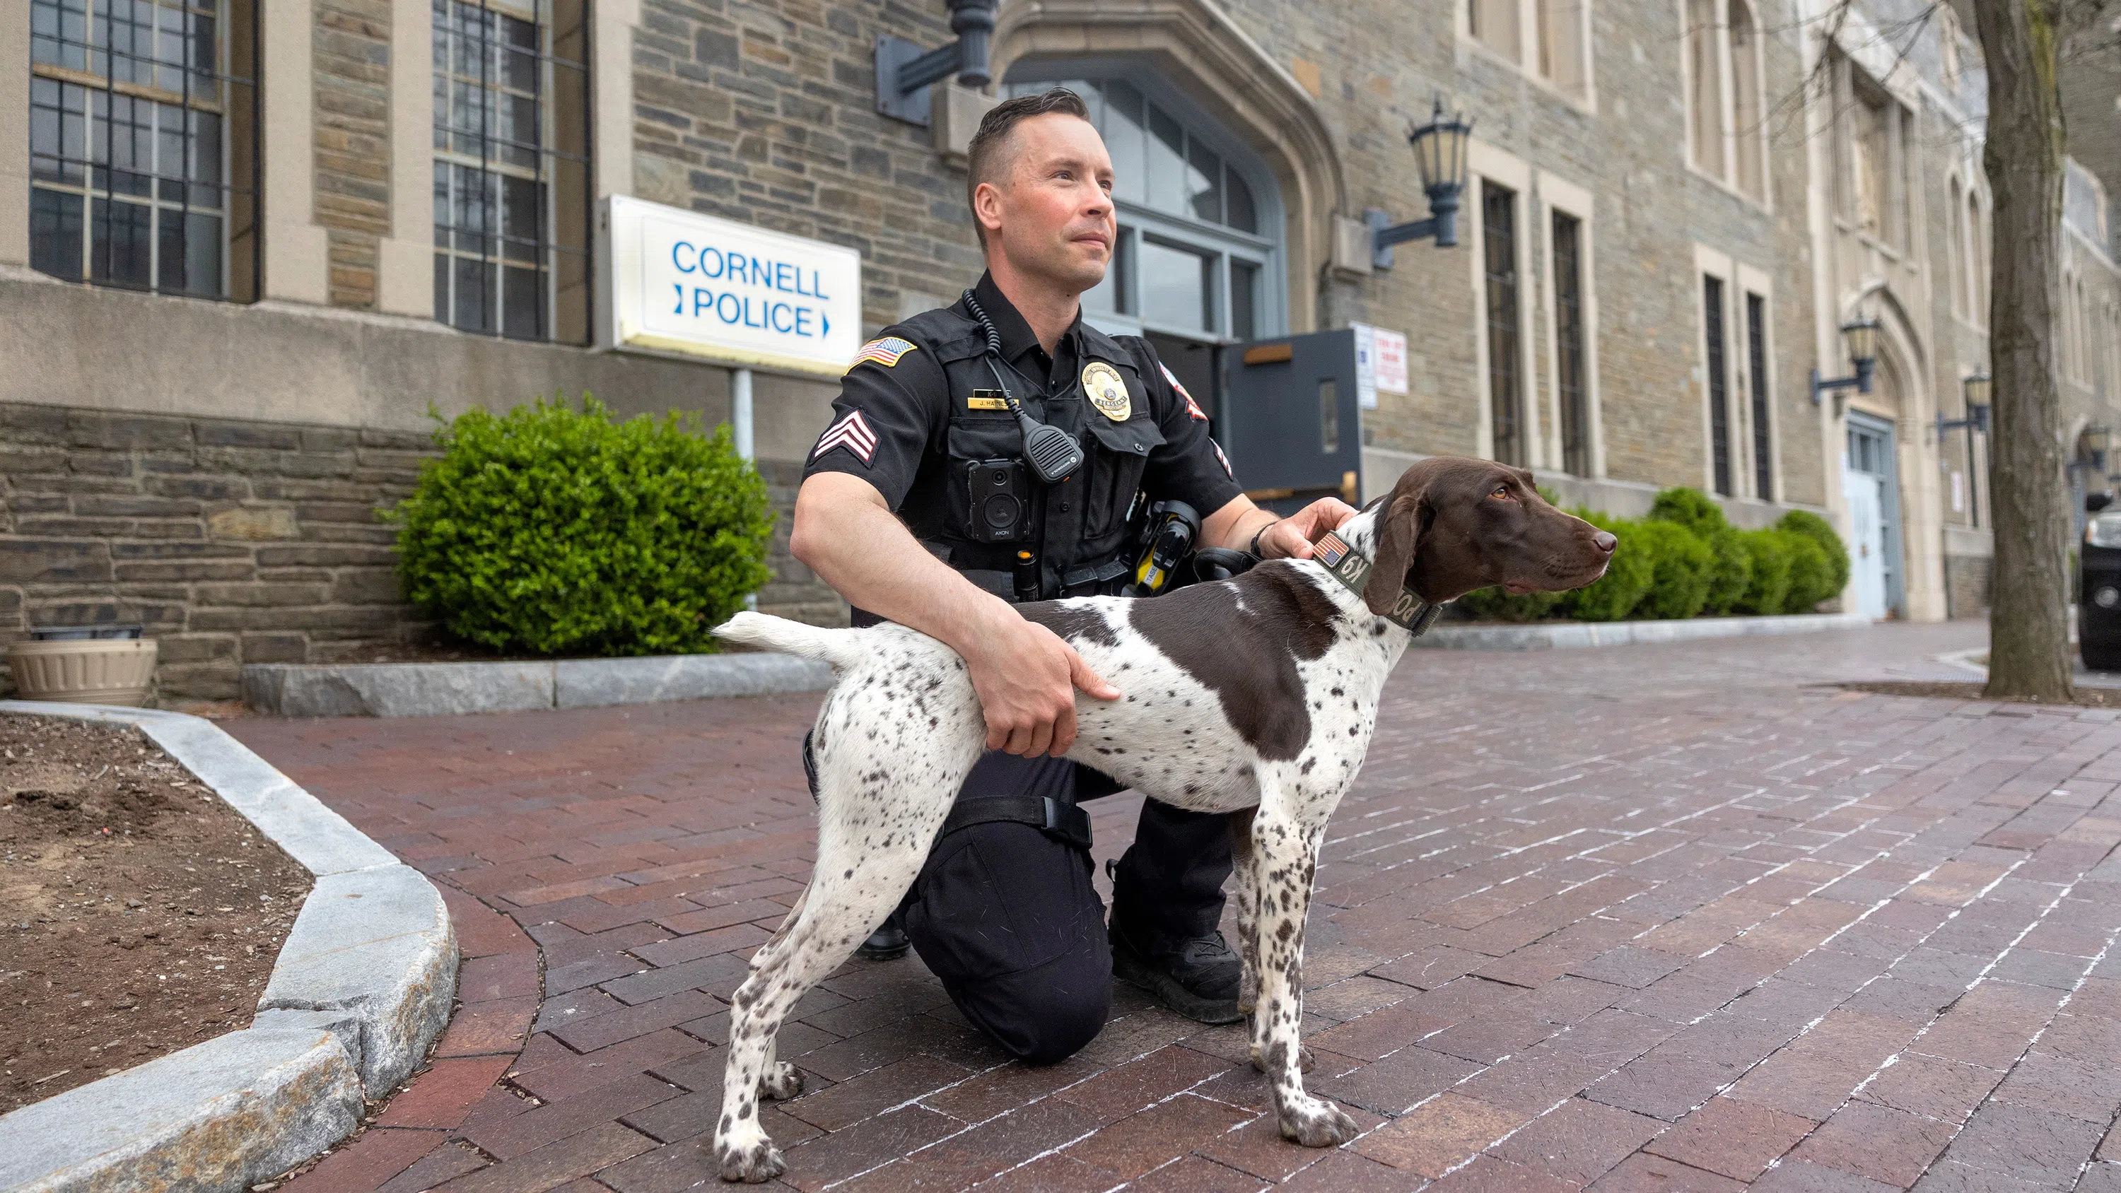
[[[651,655],[530,663],[250,663],[244,704],[271,716],[458,716],[823,691],[793,655]]]

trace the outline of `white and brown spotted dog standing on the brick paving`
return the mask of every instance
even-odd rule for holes
[[[1546,504],[1529,473],[1436,458],[1321,540],[1317,559],[1156,600],[1018,606],[1124,693],[1077,697],[1069,759],[1175,807],[1243,814],[1230,818],[1239,998],[1285,1138],[1355,1136],[1353,1119],[1304,1093],[1296,1028],[1317,848],[1362,769],[1385,678],[1427,608],[1487,585],[1574,589],[1606,572],[1612,549],[1612,534]],[[795,1066],[774,1060],[774,1034],[912,886],[986,748],[986,720],[965,661],[901,625],[819,629],[740,612],[715,634],[838,672],[814,731],[817,869],[730,1007],[715,1151],[725,1180],[770,1180],[785,1161],[757,1098],[802,1089]]]

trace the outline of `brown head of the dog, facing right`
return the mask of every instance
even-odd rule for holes
[[[1548,504],[1523,468],[1436,456],[1408,468],[1383,498],[1377,570],[1362,600],[1383,615],[1402,583],[1432,604],[1489,585],[1512,593],[1580,589],[1606,574],[1616,542]]]

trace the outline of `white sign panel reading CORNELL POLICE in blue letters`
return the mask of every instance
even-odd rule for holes
[[[846,373],[861,348],[859,252],[628,195],[607,203],[615,345]]]

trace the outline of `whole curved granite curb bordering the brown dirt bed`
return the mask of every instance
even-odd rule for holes
[[[221,727],[180,712],[6,699],[138,725],[316,884],[240,1032],[0,1115],[0,1189],[246,1189],[346,1138],[450,1021],[441,892]]]

